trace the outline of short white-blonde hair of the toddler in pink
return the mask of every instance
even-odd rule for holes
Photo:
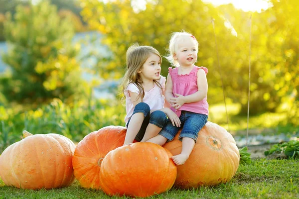
[[[178,67],[179,66],[177,60],[174,59],[174,55],[175,55],[175,53],[177,51],[177,48],[178,48],[178,44],[177,43],[180,41],[180,39],[182,37],[185,37],[185,36],[188,36],[188,37],[191,37],[191,38],[194,39],[195,44],[197,46],[196,50],[198,51],[198,45],[199,45],[198,41],[196,40],[196,38],[192,34],[190,34],[188,32],[185,32],[183,30],[182,30],[182,32],[173,32],[171,34],[171,37],[170,37],[170,40],[169,40],[169,47],[168,47],[168,50],[167,50],[168,51],[168,55],[165,56],[165,58],[174,67]]]

